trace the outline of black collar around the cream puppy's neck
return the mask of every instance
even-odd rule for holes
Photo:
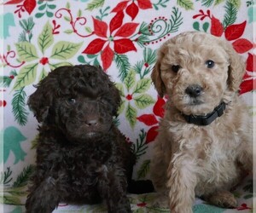
[[[207,126],[212,123],[216,118],[223,115],[226,104],[221,102],[218,107],[215,107],[213,112],[207,115],[184,115],[183,117],[189,124],[196,124],[199,126]]]

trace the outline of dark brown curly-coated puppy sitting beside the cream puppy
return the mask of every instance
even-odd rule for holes
[[[135,155],[113,124],[119,90],[96,66],[61,66],[29,97],[39,127],[37,164],[26,212],[51,212],[59,202],[131,212],[126,189]]]

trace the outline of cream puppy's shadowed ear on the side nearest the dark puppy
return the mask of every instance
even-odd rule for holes
[[[156,61],[154,65],[153,72],[151,73],[151,79],[158,95],[163,97],[166,94],[166,85],[160,76],[160,60]]]

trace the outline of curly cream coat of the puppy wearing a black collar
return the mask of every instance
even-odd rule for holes
[[[212,60],[214,66],[207,66]],[[237,95],[245,64],[230,43],[204,32],[183,32],[159,50],[152,80],[167,95],[166,114],[154,143],[151,176],[158,204],[192,212],[195,196],[221,207],[236,207],[230,188],[253,168],[252,125]],[[186,91],[201,88],[197,95]],[[183,114],[205,115],[220,102],[224,114],[212,124],[186,123]]]

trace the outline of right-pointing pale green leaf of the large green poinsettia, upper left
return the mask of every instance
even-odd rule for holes
[[[55,43],[50,58],[59,60],[70,59],[79,51],[82,44],[83,43],[71,43],[64,41]]]

